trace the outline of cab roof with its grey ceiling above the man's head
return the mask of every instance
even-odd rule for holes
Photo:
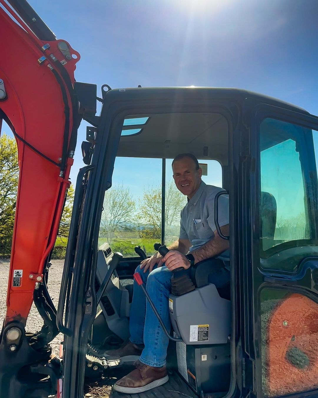
[[[245,104],[254,107],[263,103],[308,114],[287,102],[237,88],[118,88],[109,90],[104,98],[105,102],[120,103],[127,109],[125,120],[129,122],[125,125],[124,121],[122,126],[117,156],[175,158],[179,153],[191,152],[199,159],[218,160],[222,166],[228,164],[229,126],[222,111],[217,110],[218,104],[234,104],[242,109]],[[149,108],[149,104],[152,107]],[[184,113],[183,104],[190,108],[192,104],[197,105],[196,111]],[[156,105],[158,108],[154,111]],[[172,106],[171,110],[160,113],[162,106],[167,109],[167,105],[169,109]],[[131,125],[134,118],[143,118],[146,122]]]

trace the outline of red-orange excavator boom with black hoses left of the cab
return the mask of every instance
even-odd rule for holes
[[[24,1],[9,5],[0,0],[0,37],[0,120],[11,127],[19,157],[7,312],[0,338],[0,394],[11,396],[16,380],[14,394],[22,397],[28,389],[39,391],[39,380],[23,383],[21,367],[34,374],[39,363],[48,363],[50,349],[43,347],[58,334],[46,279],[81,120],[74,91],[80,54],[65,40],[56,40]],[[44,326],[31,336],[25,334],[25,324],[35,298]],[[55,394],[54,389],[56,383],[48,391]]]

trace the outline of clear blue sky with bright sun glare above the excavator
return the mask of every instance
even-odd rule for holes
[[[29,2],[81,54],[76,80],[97,84],[98,95],[102,84],[237,87],[318,113],[316,0]]]

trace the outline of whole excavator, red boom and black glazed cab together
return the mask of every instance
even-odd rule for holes
[[[0,7],[0,122],[12,128],[20,167],[0,396],[82,398],[85,376],[102,374],[109,385],[128,373],[129,363],[105,351],[129,338],[136,267],[178,238],[177,213],[186,202],[173,191],[170,163],[185,152],[228,198],[229,236],[219,228],[219,195],[214,220],[229,250],[198,263],[186,279],[173,275],[169,382],[136,397],[316,396],[318,117],[230,88],[104,85],[97,98],[95,85],[75,81],[80,54],[25,0],[0,0]],[[50,258],[81,119],[89,123],[85,166],[55,308]],[[131,211],[133,201],[130,217],[112,228],[123,218],[109,212],[105,198],[112,195],[122,210],[127,188],[137,192],[153,181],[160,182],[151,213],[159,214],[156,234],[146,234],[155,228],[141,207]],[[217,267],[229,273],[222,289],[209,277]],[[43,318],[37,333],[25,330],[32,302]],[[58,332],[61,360],[50,348]]]

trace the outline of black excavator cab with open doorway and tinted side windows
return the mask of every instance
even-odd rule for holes
[[[309,378],[295,386],[280,374],[293,367],[299,378],[308,369],[312,374],[315,372],[309,341],[315,341],[317,330],[312,322],[317,304],[310,301],[310,293],[304,289],[308,286],[306,278],[315,274],[316,264],[311,254],[317,249],[314,216],[317,119],[292,105],[242,90],[127,88],[104,94],[97,120],[95,128],[88,127],[91,163],[83,168],[78,179],[78,184],[85,186],[81,217],[87,212],[87,220],[95,223],[90,234],[85,219],[79,223],[74,267],[76,270],[79,261],[82,275],[83,266],[91,267],[89,275],[95,279],[91,279],[90,286],[86,277],[82,292],[76,288],[77,284],[72,284],[66,320],[68,330],[80,328],[81,347],[89,341],[89,355],[85,359],[79,354],[75,361],[74,352],[80,353],[79,341],[75,343],[72,336],[66,336],[64,388],[74,390],[74,377],[70,375],[77,374],[80,367],[90,376],[94,368],[96,374],[105,372],[106,368],[115,379],[128,373],[124,369],[129,363],[107,357],[103,352],[129,338],[132,276],[142,259],[153,252],[145,253],[140,247],[142,242],[136,240],[135,244],[140,246],[136,246],[135,255],[122,256],[114,253],[112,244],[101,238],[101,224],[97,221],[105,220],[104,197],[111,192],[116,172],[121,172],[120,163],[127,164],[122,179],[130,182],[130,173],[135,172],[134,162],[145,161],[149,170],[156,164],[156,178],[161,181],[162,189],[161,245],[164,245],[172,238],[165,231],[168,167],[180,152],[191,152],[202,165],[215,162],[215,166],[217,162],[221,166],[219,185],[224,189],[222,194],[229,197],[230,220],[230,234],[223,238],[229,239],[230,249],[209,264],[193,267],[189,280],[181,282],[181,291],[178,285],[172,291],[169,298],[172,328],[167,331],[171,339],[167,358],[170,381],[149,394],[173,396],[171,391],[175,391],[176,385],[187,396],[250,393],[275,396],[281,392],[307,391]],[[147,170],[144,176],[146,180]],[[207,182],[208,178],[209,175]],[[95,201],[89,199],[92,197]],[[215,200],[216,226],[218,199]],[[295,216],[290,218],[291,214]],[[293,232],[285,227],[289,222]],[[131,240],[133,245],[134,239]],[[87,252],[87,247],[92,250]],[[118,242],[116,252],[120,252]],[[279,259],[276,265],[271,262],[274,259]],[[217,267],[224,267],[231,275],[231,283],[221,291],[209,282],[209,273]],[[84,305],[87,292],[91,292],[89,302],[94,303],[94,289],[100,298],[98,310],[77,312],[75,303],[84,300]],[[61,295],[64,293],[61,291]],[[300,307],[306,302],[298,317],[304,322],[296,328],[298,337],[296,329],[291,327],[295,335],[290,336],[290,331],[279,338],[279,331],[293,318],[292,303],[297,300]],[[304,314],[309,307],[312,314],[306,321]],[[260,323],[264,312],[266,322]],[[281,324],[278,313],[282,313]],[[84,329],[83,324],[91,326]],[[273,352],[277,351],[275,338],[279,344],[285,339],[280,359],[273,359]],[[286,345],[288,339],[298,343]],[[68,352],[72,352],[72,361]],[[310,385],[315,388],[314,382]],[[112,396],[121,394],[113,392]],[[142,396],[147,396],[147,392]]]

